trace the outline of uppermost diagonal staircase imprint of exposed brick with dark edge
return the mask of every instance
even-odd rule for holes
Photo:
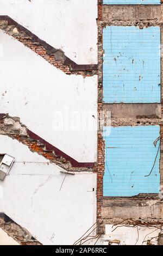
[[[67,75],[92,76],[97,72],[97,65],[78,65],[65,56],[64,52],[48,45],[45,41],[39,39],[28,29],[19,25],[8,16],[0,16],[0,28],[7,34],[13,36],[23,45],[29,47],[36,54],[46,59],[56,68],[62,70]]]

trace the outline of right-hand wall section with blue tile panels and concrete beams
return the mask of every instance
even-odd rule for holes
[[[98,1],[98,111],[99,113],[104,112],[104,126],[107,126],[108,113],[111,114],[111,127],[104,127],[103,130],[98,132],[97,220],[99,223],[99,234],[102,234],[101,242],[104,245],[117,244],[116,241],[118,241],[120,245],[160,244],[159,240],[163,220],[161,192],[162,105],[160,104],[160,102],[162,102],[162,82],[159,82],[158,77],[161,75],[162,78],[162,62],[160,70],[156,69],[156,65],[160,65],[160,58],[162,59],[160,54],[162,36],[154,45],[156,48],[149,51],[149,53],[141,47],[143,43],[147,47],[148,42],[146,37],[141,36],[141,44],[135,48],[135,53],[141,53],[140,58],[137,58],[136,54],[133,53],[134,47],[136,47],[139,41],[137,39],[139,38],[134,39],[135,45],[133,44],[133,48],[131,40],[136,36],[134,29],[140,29],[141,33],[145,32],[146,29],[154,29],[154,31],[158,29],[162,35],[162,4],[160,1],[147,1],[143,4],[144,2],[145,1],[141,1],[141,3],[140,1]],[[132,28],[131,26],[134,26],[134,29],[132,29],[130,34],[127,34],[129,29]],[[106,31],[106,28],[108,28],[108,31]],[[126,30],[126,33],[122,33],[120,37],[118,37],[120,34],[115,33],[114,37],[113,33],[116,28],[120,33],[121,28]],[[105,35],[109,36],[110,40],[104,37]],[[154,36],[155,35],[156,34],[154,34]],[[124,36],[126,36],[126,38],[124,38]],[[117,39],[119,39],[119,41],[116,41]],[[153,36],[151,40],[149,40],[149,47],[152,47],[152,39],[154,39]],[[117,51],[119,52],[119,54],[117,54],[119,56],[115,56]],[[143,71],[149,72],[149,69],[147,69],[146,66],[146,69],[143,70],[142,65],[142,68],[139,66],[139,68],[134,71],[134,68],[132,68],[132,65],[134,65],[133,59],[135,58],[135,61],[139,64],[142,61],[141,58],[144,57],[145,63],[147,64],[148,58],[150,59],[152,56],[158,64],[153,65],[153,62],[149,60],[151,63],[149,69],[151,71],[147,82],[145,81],[146,74],[142,76],[144,89],[142,83],[141,89],[143,89],[143,93],[141,101],[136,98],[136,95],[139,95],[137,92],[137,90],[139,90],[139,83],[142,82],[140,76]],[[123,57],[124,59],[122,61]],[[130,57],[131,62],[128,62]],[[154,71],[152,71],[152,69]],[[108,76],[105,76],[107,70]],[[151,77],[152,73],[153,79]],[[137,77],[138,74],[139,76]],[[130,84],[129,87],[128,82]],[[153,91],[150,89],[151,82]],[[136,84],[136,86],[134,86],[134,84]],[[155,93],[154,86],[158,92],[158,99],[152,100],[152,92]],[[136,87],[135,90],[134,87]],[[129,93],[132,89],[133,92]],[[132,97],[132,94],[135,94],[135,96]],[[148,96],[149,98],[147,99]],[[153,133],[153,138],[148,135],[151,125],[152,129],[158,127],[160,131],[159,133]],[[136,127],[147,129],[144,139],[140,139],[142,133],[138,132],[131,138],[131,134]],[[112,133],[114,130],[117,131],[115,135]],[[108,132],[108,135],[105,135],[105,132]],[[146,139],[146,137],[148,139]],[[139,154],[141,154],[140,157],[145,156],[147,152],[146,140],[152,148],[149,150],[150,153],[147,154],[147,158],[142,161],[141,173],[139,174],[138,172],[135,175],[136,168],[140,168],[139,163],[141,162],[141,158],[136,159],[137,153],[139,152]],[[134,144],[136,141],[137,143],[139,142],[137,147],[136,144]],[[156,148],[153,145],[154,142],[158,143],[157,145],[155,144]],[[131,147],[129,144],[131,144]],[[139,147],[142,147],[142,149]],[[153,154],[152,150],[154,150]],[[112,159],[111,156],[115,158]],[[124,159],[124,157],[126,157],[126,159]],[[127,184],[127,186],[131,184],[129,189],[125,184],[128,179],[127,175],[130,175],[129,183]],[[159,179],[156,183],[154,180],[151,182],[151,185],[149,185],[151,192],[149,192],[146,184],[141,187],[141,176],[147,180],[148,178],[151,179],[152,175],[157,175],[157,177],[159,175]],[[136,186],[137,189],[140,188],[142,193],[134,192],[134,186]],[[153,186],[156,188],[155,191]],[[112,190],[111,187],[113,188]],[[126,194],[122,195],[122,191],[126,191]],[[133,196],[130,196],[132,191],[134,192]],[[125,227],[128,228],[128,231]],[[153,235],[151,237],[148,236],[151,227],[153,227],[153,232],[156,232],[156,240],[152,238],[154,237]],[[114,229],[115,231],[113,231]],[[136,235],[135,237],[131,235],[134,233],[137,233],[138,236],[140,235],[142,240],[137,240]]]

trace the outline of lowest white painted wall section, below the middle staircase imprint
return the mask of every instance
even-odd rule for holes
[[[15,163],[0,181],[0,211],[43,245],[72,245],[96,222],[96,174],[67,174],[60,191],[62,169],[26,145],[0,135],[1,153]]]

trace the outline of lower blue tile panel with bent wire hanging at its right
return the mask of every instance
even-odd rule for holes
[[[139,193],[159,193],[159,159],[151,172],[159,142],[159,126],[104,127],[105,174],[103,195],[107,197],[130,197]]]

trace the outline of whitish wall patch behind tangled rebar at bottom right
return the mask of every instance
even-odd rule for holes
[[[155,227],[123,227],[122,225],[116,227],[115,225],[105,225],[105,235],[101,236],[99,244],[108,245],[109,241],[120,240],[120,245],[147,245],[147,240],[160,233],[160,230]],[[157,238],[152,239],[151,242],[157,245]],[[112,243],[112,245],[117,244]]]

